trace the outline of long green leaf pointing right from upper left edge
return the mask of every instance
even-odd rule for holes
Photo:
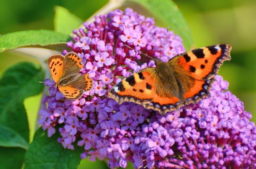
[[[20,47],[44,47],[59,50],[68,40],[70,40],[69,35],[51,30],[18,31],[0,36],[0,52]]]

